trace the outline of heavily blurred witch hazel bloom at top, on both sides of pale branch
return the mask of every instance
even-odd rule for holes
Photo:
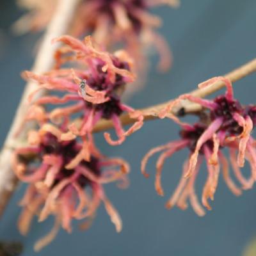
[[[19,0],[22,8],[28,9],[15,24],[15,33],[44,29],[56,10],[56,0]],[[159,69],[167,70],[171,63],[171,53],[164,38],[156,32],[161,19],[148,10],[154,6],[168,4],[179,6],[179,0],[83,0],[77,7],[69,34],[84,36],[92,34],[96,42],[108,49],[124,44],[140,68],[145,67],[145,46],[153,45],[159,52]],[[140,61],[141,60],[141,61]]]

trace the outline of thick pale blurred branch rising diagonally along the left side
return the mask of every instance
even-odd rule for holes
[[[52,17],[52,20],[45,31],[44,38],[42,39],[42,45],[36,56],[35,63],[33,65],[33,72],[42,73],[49,71],[54,64],[54,51],[58,45],[51,45],[52,38],[61,36],[67,33],[70,27],[70,22],[74,17],[79,0],[59,0],[56,12]],[[0,216],[8,204],[8,200],[12,195],[17,185],[17,179],[12,172],[11,168],[11,156],[13,151],[13,145],[17,143],[19,138],[15,138],[15,133],[21,127],[24,121],[24,116],[28,111],[28,95],[36,89],[36,84],[29,82],[26,84],[24,93],[20,100],[20,104],[15,113],[12,126],[8,132],[8,136],[4,141],[3,149],[0,155]],[[41,92],[41,95],[44,92]],[[38,95],[40,97],[40,95]],[[31,127],[30,127],[31,128]],[[22,136],[22,134],[21,134]]]

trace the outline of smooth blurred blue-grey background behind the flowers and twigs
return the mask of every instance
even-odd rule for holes
[[[181,0],[178,10],[157,8],[154,13],[163,18],[161,33],[173,51],[173,67],[167,74],[154,69],[147,86],[134,95],[129,104],[141,108],[164,102],[180,93],[196,88],[209,77],[225,74],[256,56],[255,0]],[[0,1],[0,143],[12,122],[15,108],[24,88],[20,72],[31,68],[33,49],[40,35],[15,37],[10,26],[22,14],[13,0]],[[244,103],[254,103],[256,74],[234,86],[236,97]],[[188,211],[164,208],[164,203],[179,180],[181,166],[188,151],[168,160],[163,170],[166,196],[154,190],[154,176],[145,179],[140,173],[140,161],[149,148],[175,140],[179,127],[168,120],[148,122],[130,136],[120,147],[109,146],[102,134],[97,135],[101,150],[108,156],[124,157],[131,163],[131,186],[120,191],[114,184],[106,186],[116,206],[124,229],[116,234],[104,207],[100,207],[90,230],[81,232],[74,223],[72,234],[60,231],[58,237],[40,253],[33,252],[35,241],[52,227],[52,219],[44,223],[35,220],[27,237],[20,236],[16,222],[17,205],[24,193],[21,186],[13,196],[0,221],[0,240],[22,241],[22,255],[182,255],[182,256],[239,256],[244,246],[256,236],[256,188],[244,191],[239,198],[232,195],[222,178],[212,202],[213,210],[199,218]],[[245,172],[249,172],[246,165]],[[154,161],[148,164],[154,174]],[[200,170],[197,193],[201,193],[205,166]],[[252,255],[256,255],[252,254]]]

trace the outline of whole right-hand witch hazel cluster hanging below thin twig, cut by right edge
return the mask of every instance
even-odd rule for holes
[[[157,152],[163,152],[156,163],[156,191],[163,196],[163,188],[161,186],[161,172],[164,161],[173,153],[182,148],[189,148],[191,152],[189,159],[184,163],[182,177],[177,189],[168,200],[166,207],[170,209],[177,205],[181,209],[188,207],[187,200],[193,207],[196,214],[204,216],[205,211],[202,205],[207,209],[211,209],[209,198],[214,199],[214,193],[218,186],[220,167],[223,172],[223,179],[228,188],[235,194],[240,195],[241,189],[250,189],[256,180],[256,150],[255,140],[250,135],[255,124],[255,106],[242,106],[238,100],[234,98],[232,84],[224,77],[214,77],[199,84],[200,88],[211,86],[216,81],[223,81],[227,87],[225,95],[220,95],[214,100],[200,99],[191,94],[181,95],[177,100],[173,100],[164,108],[159,117],[168,116],[181,125],[180,140],[172,141],[166,145],[159,146],[150,150],[141,163],[141,170],[146,177],[146,164],[148,159]],[[181,100],[188,99],[191,102],[200,104],[208,111],[204,118],[196,124],[190,125],[180,122],[171,111],[175,105]],[[227,148],[230,153],[230,163],[237,180],[241,183],[238,188],[229,175],[228,160],[223,154],[223,149]],[[195,193],[195,181],[202,159],[207,164],[207,180],[202,191],[202,205],[200,205]],[[244,159],[250,163],[252,174],[246,179],[241,167],[244,166]]]

